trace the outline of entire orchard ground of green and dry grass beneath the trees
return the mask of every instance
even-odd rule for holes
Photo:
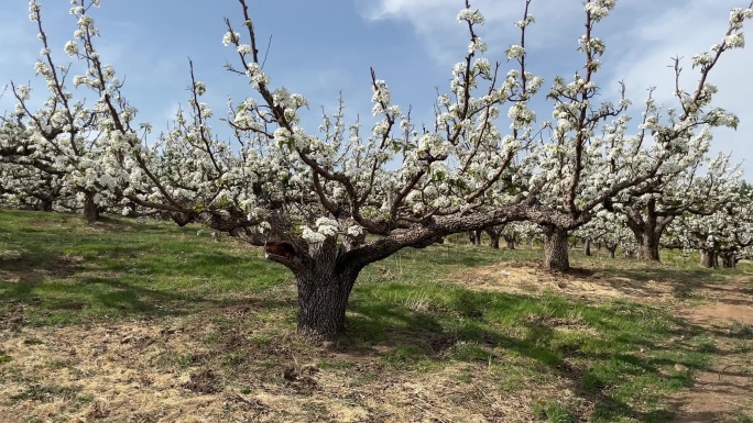
[[[0,211],[2,422],[751,422],[753,266],[434,245],[336,342],[292,274],[197,226]]]

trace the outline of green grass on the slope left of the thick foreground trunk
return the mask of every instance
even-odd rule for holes
[[[66,214],[0,212],[0,302],[24,308],[30,325],[90,318],[192,313],[244,302],[291,280],[286,270],[197,226]],[[6,305],[8,309],[8,305]],[[1,309],[0,309],[1,310]]]

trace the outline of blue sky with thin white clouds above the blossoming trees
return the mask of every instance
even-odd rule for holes
[[[70,59],[63,45],[75,30],[68,2],[40,0],[43,20],[58,64]],[[446,92],[450,68],[465,55],[468,35],[455,20],[462,0],[249,0],[262,45],[272,37],[265,71],[272,86],[285,86],[310,102],[304,122],[315,130],[320,107],[329,112],[339,92],[346,114],[370,122],[369,68],[386,80],[394,102],[430,124],[436,88]],[[480,30],[488,43],[488,56],[504,65],[504,49],[516,44],[513,23],[522,18],[523,0],[477,0],[487,16]],[[656,5],[656,4],[661,5]],[[690,57],[719,43],[727,29],[729,10],[745,7],[747,0],[621,0],[613,14],[597,27],[604,38],[604,67],[598,74],[605,100],[618,92],[618,81],[628,85],[628,97],[640,114],[646,89],[656,86],[655,97],[672,103],[674,75],[670,57],[685,57],[684,86],[692,89],[697,73]],[[575,51],[582,30],[581,0],[534,0],[536,16],[527,35],[530,70],[545,77],[571,76],[581,57]],[[234,0],[102,0],[92,16],[101,31],[98,49],[126,79],[124,93],[139,109],[139,121],[152,122],[155,132],[166,126],[188,92],[188,65],[195,63],[197,79],[207,84],[206,100],[216,115],[225,114],[228,97],[242,100],[249,87],[222,65],[236,56],[221,44],[223,18],[236,26],[242,21]],[[33,64],[40,43],[34,23],[28,20],[28,4],[8,1],[0,14],[0,87],[13,80],[39,87],[32,98],[45,93],[34,78]],[[753,22],[746,27],[753,30]],[[749,34],[751,30],[746,31]],[[749,36],[753,43],[753,35]],[[263,49],[263,47],[262,47]],[[504,66],[503,66],[504,68]],[[743,162],[746,179],[753,180],[753,46],[729,52],[711,81],[720,88],[716,104],[741,119],[738,131],[714,132],[713,152],[733,153]],[[548,84],[545,84],[547,87]],[[83,92],[86,96],[87,93]],[[90,97],[90,94],[89,94]],[[12,96],[0,99],[0,113],[13,107]],[[538,111],[538,119],[549,119]],[[216,127],[222,122],[216,121]]]

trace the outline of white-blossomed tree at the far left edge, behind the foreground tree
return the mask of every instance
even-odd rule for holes
[[[92,2],[91,5],[96,5]],[[79,52],[78,43],[84,46],[90,45],[91,38],[97,35],[94,21],[79,13],[78,30],[74,34],[75,41],[65,45],[65,52],[81,60],[91,60],[94,51],[85,48]],[[42,197],[43,207],[51,207],[50,202],[63,199],[65,194],[68,205],[83,208],[84,215],[88,221],[95,221],[99,216],[102,207],[112,203],[117,199],[118,190],[113,189],[102,157],[109,153],[106,133],[99,127],[106,105],[98,101],[94,107],[87,107],[81,100],[76,100],[70,91],[70,85],[79,87],[90,86],[97,93],[107,90],[117,90],[120,87],[111,66],[106,66],[98,71],[99,75],[87,71],[86,75],[68,77],[72,73],[70,65],[57,65],[53,59],[50,43],[42,25],[40,4],[35,1],[29,3],[30,19],[35,22],[42,43],[41,58],[34,65],[37,76],[41,76],[47,87],[50,97],[42,107],[32,110],[30,105],[31,88],[29,86],[11,82],[12,92],[18,100],[17,108],[11,112],[11,119],[19,122],[24,130],[23,136],[7,138],[3,141],[2,160],[18,166],[23,166],[26,175],[34,176],[31,183],[26,185],[25,191],[32,191],[34,185],[50,182],[45,186],[48,194],[42,194],[44,190],[34,191],[34,196]],[[73,12],[73,10],[72,10]],[[107,80],[110,86],[96,86],[95,81]],[[132,115],[123,119],[132,119]],[[9,122],[6,122],[9,124]],[[10,153],[10,154],[6,154]],[[19,176],[17,174],[17,176]],[[72,201],[70,201],[72,200]]]

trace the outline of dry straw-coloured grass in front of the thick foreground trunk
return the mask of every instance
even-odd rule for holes
[[[214,310],[196,319],[23,329],[0,342],[3,422],[527,421],[530,404],[575,398],[565,380],[499,389],[498,363],[399,369],[383,354],[295,336],[254,337]],[[407,420],[406,420],[407,419]]]

